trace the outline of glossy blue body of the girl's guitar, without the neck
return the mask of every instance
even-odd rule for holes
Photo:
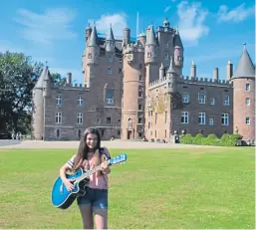
[[[82,169],[78,169],[73,174],[67,174],[68,179],[76,179],[83,174]],[[52,203],[55,207],[61,209],[69,208],[78,196],[86,194],[86,185],[88,180],[83,180],[75,184],[75,188],[72,191],[68,191],[65,184],[62,182],[61,177],[58,177],[55,181],[52,190]]]

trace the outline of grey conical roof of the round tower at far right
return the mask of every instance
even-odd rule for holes
[[[236,78],[255,78],[255,66],[252,63],[250,55],[244,44],[242,55],[234,71],[232,79]]]

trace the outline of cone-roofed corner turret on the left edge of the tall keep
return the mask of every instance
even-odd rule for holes
[[[98,35],[96,26],[94,26],[93,31],[91,33],[90,39],[88,41],[88,46],[86,50],[86,56],[84,57],[84,63],[87,64],[85,66],[85,84],[88,88],[90,88],[91,79],[96,76],[97,65],[99,64],[99,56],[100,56],[100,47],[98,44]]]

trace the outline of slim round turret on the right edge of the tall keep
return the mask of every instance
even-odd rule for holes
[[[173,38],[173,45],[174,45],[174,65],[178,71],[178,74],[182,75],[182,68],[183,68],[183,52],[184,48],[181,42],[181,38],[179,36],[178,29],[176,29],[174,38]]]

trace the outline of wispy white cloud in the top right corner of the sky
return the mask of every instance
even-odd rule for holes
[[[245,7],[245,3],[242,3],[240,6],[237,6],[234,9],[230,9],[228,11],[228,7],[226,5],[221,5],[219,7],[219,11],[217,14],[218,21],[232,21],[232,22],[241,22],[246,18],[254,15],[255,6]]]

